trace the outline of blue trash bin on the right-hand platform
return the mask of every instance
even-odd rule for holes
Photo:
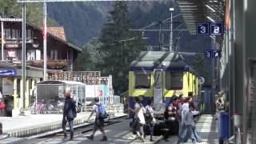
[[[229,112],[219,112],[218,114],[218,140],[220,143],[229,138]]]

